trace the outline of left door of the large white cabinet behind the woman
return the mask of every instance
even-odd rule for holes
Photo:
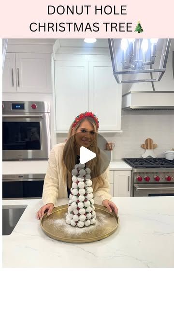
[[[68,131],[88,111],[88,62],[55,61],[56,131]]]

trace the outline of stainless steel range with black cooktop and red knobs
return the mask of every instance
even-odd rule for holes
[[[131,196],[174,196],[174,160],[123,158],[133,169]]]

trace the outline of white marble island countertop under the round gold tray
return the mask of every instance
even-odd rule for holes
[[[58,205],[67,199],[58,200]],[[71,244],[43,233],[36,212],[41,200],[27,204],[9,236],[3,236],[3,267],[174,267],[174,197],[117,197],[120,224],[115,233],[93,243]]]

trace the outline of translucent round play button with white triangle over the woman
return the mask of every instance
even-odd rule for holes
[[[111,151],[107,140],[96,132],[78,132],[65,143],[63,161],[72,173],[76,164],[90,168],[91,179],[100,176],[109,166]]]

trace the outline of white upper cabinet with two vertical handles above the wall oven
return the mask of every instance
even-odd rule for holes
[[[52,92],[51,55],[49,53],[6,53],[3,93],[16,92]]]

